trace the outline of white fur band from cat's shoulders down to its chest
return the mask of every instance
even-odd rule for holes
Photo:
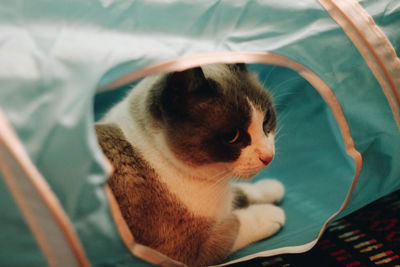
[[[135,91],[132,97],[146,97],[146,92],[140,88],[136,88]],[[117,124],[127,140],[139,150],[159,175],[160,182],[164,183],[194,215],[218,220],[229,214],[232,208],[232,193],[226,175],[213,174],[212,166],[200,170],[182,166],[167,148],[162,133],[150,128],[144,129],[139,125],[131,114],[128,101],[132,100],[128,97],[114,107],[101,123]],[[139,108],[140,104],[138,103]]]

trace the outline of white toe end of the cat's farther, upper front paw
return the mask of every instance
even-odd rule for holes
[[[279,203],[284,194],[285,187],[281,182],[274,179],[263,179],[253,184],[255,203]]]

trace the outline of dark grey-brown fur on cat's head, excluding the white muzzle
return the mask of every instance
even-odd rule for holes
[[[197,166],[234,162],[251,144],[249,101],[265,114],[265,133],[276,127],[271,97],[254,73],[244,64],[214,66],[167,74],[152,85],[145,100],[153,117],[147,121],[163,129],[177,158]],[[131,103],[132,110],[136,104]],[[224,142],[237,129],[240,139]]]

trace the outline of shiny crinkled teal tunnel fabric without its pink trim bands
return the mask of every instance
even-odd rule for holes
[[[360,4],[398,53],[397,1]],[[280,54],[330,86],[363,157],[341,216],[400,188],[400,136],[387,99],[357,48],[317,1],[3,0],[0,108],[93,265],[144,264],[124,246],[111,218],[103,192],[105,160],[93,130],[95,118],[126,89],[96,94],[96,88],[163,60],[218,51]],[[230,259],[313,241],[342,205],[355,174],[337,123],[315,89],[290,69],[250,68],[274,95],[280,128],[276,159],[256,179],[275,177],[285,184],[287,224]],[[8,244],[0,250],[0,265],[45,265],[2,179],[0,203],[0,241]]]

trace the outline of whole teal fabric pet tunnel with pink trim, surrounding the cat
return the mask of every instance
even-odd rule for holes
[[[278,111],[287,223],[226,262],[310,249],[400,188],[400,3],[0,3],[1,266],[165,266],[126,234],[94,123],[146,75],[247,63]]]

